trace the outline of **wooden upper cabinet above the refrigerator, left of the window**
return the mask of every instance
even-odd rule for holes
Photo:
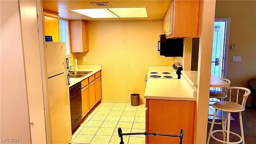
[[[44,10],[44,33],[52,36],[54,42],[60,41],[60,20],[58,13]]]

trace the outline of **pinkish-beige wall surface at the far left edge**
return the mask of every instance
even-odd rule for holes
[[[30,144],[22,32],[18,1],[0,1],[1,27],[1,140],[18,138],[16,144]]]

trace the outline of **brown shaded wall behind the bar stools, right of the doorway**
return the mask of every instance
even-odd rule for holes
[[[217,0],[215,12],[215,18],[230,18],[229,44],[237,46],[228,51],[226,78],[231,86],[248,88],[248,80],[256,78],[256,1]],[[241,62],[232,62],[232,56],[241,56]]]

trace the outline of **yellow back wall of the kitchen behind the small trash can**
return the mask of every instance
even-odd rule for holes
[[[139,93],[144,102],[148,66],[175,60],[157,51],[162,20],[88,22],[88,33],[89,52],[78,54],[78,64],[102,64],[102,100],[128,102]]]

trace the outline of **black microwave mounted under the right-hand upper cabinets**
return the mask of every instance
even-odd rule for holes
[[[165,57],[183,57],[184,38],[166,38],[165,34],[159,36],[158,52]]]

